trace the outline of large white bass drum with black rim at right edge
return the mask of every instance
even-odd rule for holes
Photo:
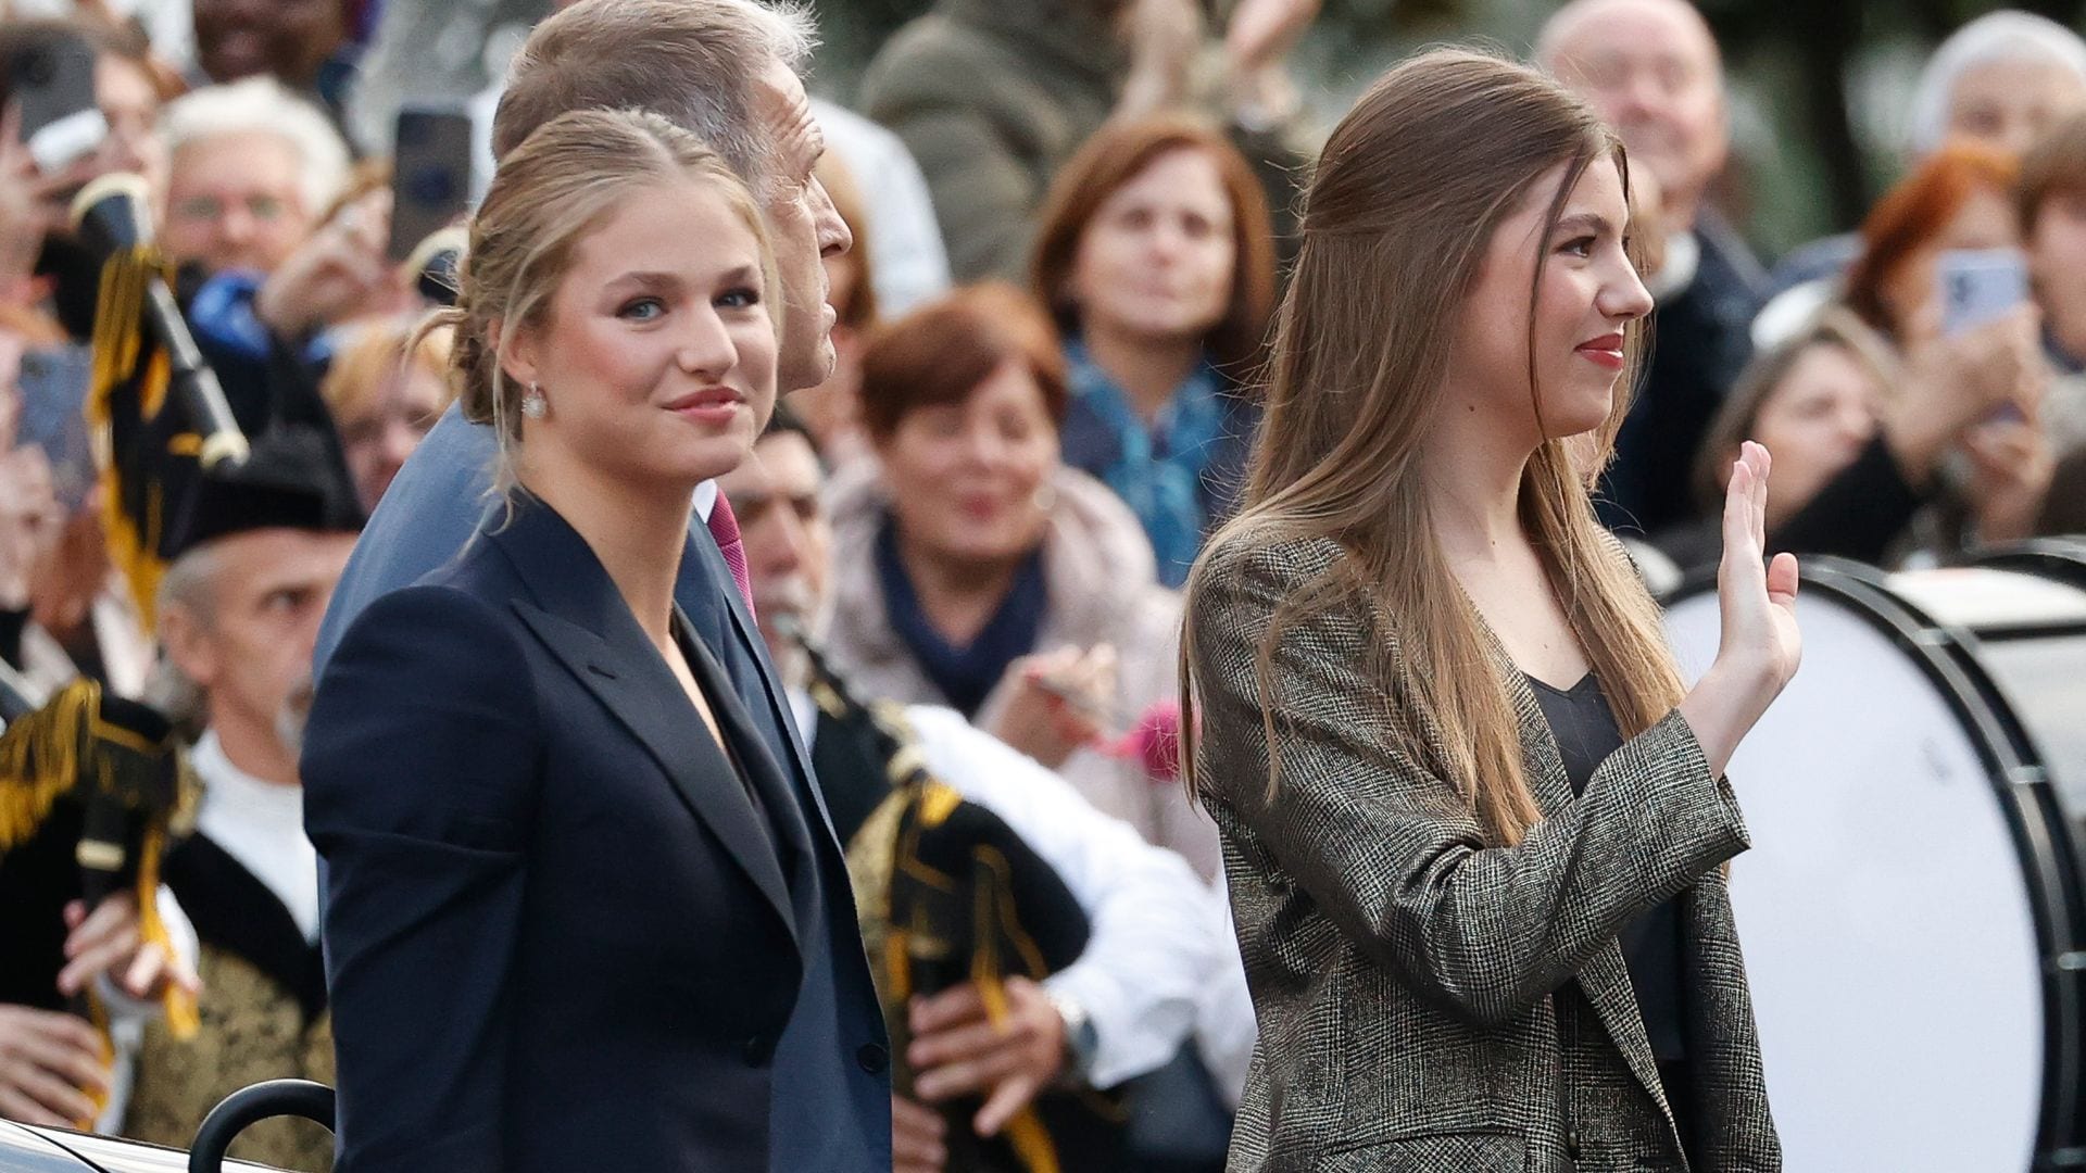
[[[1729,768],[1790,1173],[2086,1165],[2086,586],[1813,557],[1798,614],[1802,670]],[[1713,580],[1667,632],[1694,680]]]

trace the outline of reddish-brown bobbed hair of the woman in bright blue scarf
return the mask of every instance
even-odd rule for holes
[[[1035,294],[1049,305],[1060,330],[1078,334],[1078,307],[1070,298],[1070,286],[1087,225],[1118,188],[1174,150],[1210,157],[1218,182],[1224,184],[1224,198],[1231,202],[1231,301],[1206,344],[1227,376],[1254,378],[1268,336],[1268,311],[1275,305],[1275,225],[1268,219],[1268,196],[1239,148],[1191,115],[1166,113],[1110,123],[1058,171],[1039,219],[1043,228],[1037,232],[1030,278]]]

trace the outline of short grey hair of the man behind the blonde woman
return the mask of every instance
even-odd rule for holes
[[[755,83],[801,71],[818,46],[809,8],[757,0],[580,0],[536,25],[492,115],[505,159],[536,127],[584,109],[640,109],[693,129],[757,194],[776,182],[776,142]]]

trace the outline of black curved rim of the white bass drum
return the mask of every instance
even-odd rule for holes
[[[2044,543],[2036,549],[1990,551],[1990,557],[2046,559]],[[2063,549],[2067,574],[2078,553],[2078,572],[2086,574],[2086,543]],[[1994,561],[1998,570],[2026,570],[2028,564]],[[2067,968],[2065,960],[2086,960],[2086,893],[2071,827],[2057,806],[2057,787],[2048,781],[2042,756],[1984,664],[1978,662],[1978,637],[1952,624],[1936,622],[1909,599],[1890,589],[1890,576],[1873,566],[1844,557],[1811,555],[1798,566],[1804,591],[1823,591],[1850,603],[1850,612],[1902,649],[1942,693],[1944,703],[1969,733],[1986,781],[1998,797],[2000,816],[2019,856],[2021,881],[2028,889],[2030,916],[2042,950],[2042,1104],[2038,1106],[2034,1169],[2078,1167],[2086,1163],[2086,1112],[2078,1108],[2086,1094],[2086,973]],[[1717,572],[1702,568],[1681,578],[1669,591],[1663,607],[1715,595]],[[2065,866],[2063,860],[2073,860]]]

